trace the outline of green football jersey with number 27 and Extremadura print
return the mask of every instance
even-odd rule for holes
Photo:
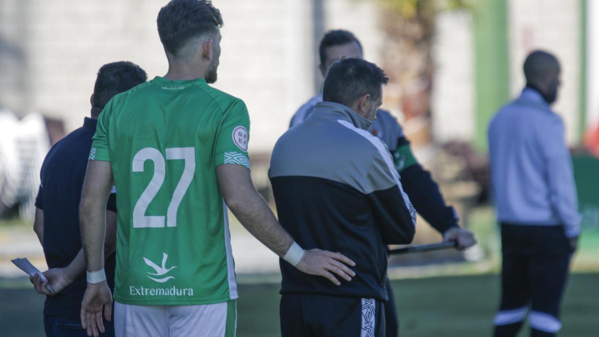
[[[243,101],[204,79],[156,77],[108,102],[90,160],[110,161],[117,190],[114,299],[198,305],[238,297],[216,167],[249,169],[249,128]]]

